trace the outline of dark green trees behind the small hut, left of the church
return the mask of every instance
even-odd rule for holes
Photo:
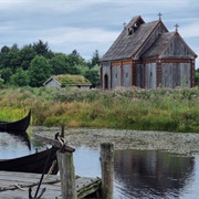
[[[98,61],[97,50],[91,61],[85,61],[76,50],[71,54],[54,53],[41,40],[21,49],[18,44],[4,45],[0,51],[0,86],[40,87],[52,75],[80,74],[95,87],[100,84]]]

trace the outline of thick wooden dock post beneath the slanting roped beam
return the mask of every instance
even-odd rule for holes
[[[73,153],[57,151],[56,153],[62,199],[76,199],[76,185],[75,185],[75,168],[73,165]]]

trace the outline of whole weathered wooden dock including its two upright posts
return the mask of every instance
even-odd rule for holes
[[[101,145],[102,178],[88,178],[75,176],[74,149],[65,142],[59,143],[42,136],[38,138],[60,148],[56,151],[60,175],[0,171],[0,198],[33,199],[40,198],[43,192],[41,199],[113,199],[114,146],[112,144]]]

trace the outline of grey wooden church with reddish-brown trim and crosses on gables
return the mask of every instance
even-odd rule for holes
[[[159,19],[134,17],[102,56],[101,87],[193,87],[197,54]]]

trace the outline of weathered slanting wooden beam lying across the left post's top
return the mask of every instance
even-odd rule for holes
[[[66,151],[70,151],[70,153],[73,153],[75,151],[75,149],[71,146],[67,146],[64,144],[64,146],[59,142],[59,140],[55,140],[55,139],[52,139],[52,138],[49,138],[49,137],[43,137],[41,135],[38,135],[38,134],[34,134],[33,137],[35,137],[36,139],[41,140],[41,142],[44,142],[49,145],[52,145],[52,146],[55,146],[57,148],[64,148]]]

